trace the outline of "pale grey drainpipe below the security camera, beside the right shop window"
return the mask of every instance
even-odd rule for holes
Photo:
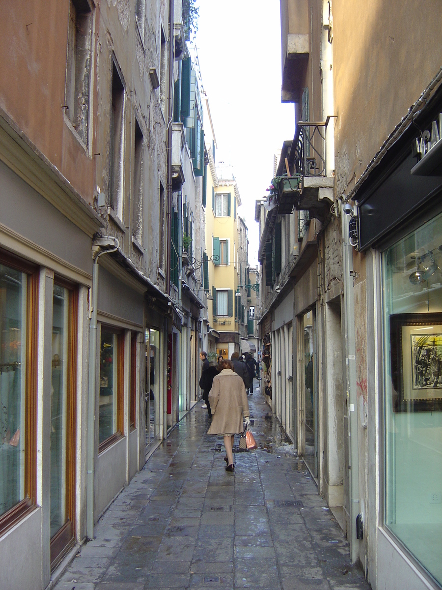
[[[359,513],[359,442],[356,396],[356,339],[354,293],[352,277],[353,248],[349,242],[348,222],[350,216],[341,208],[342,222],[342,266],[344,271],[345,334],[347,335],[345,364],[347,369],[347,412],[348,412],[348,479],[350,491],[350,559],[355,563],[359,557],[359,542],[356,538],[356,517]]]

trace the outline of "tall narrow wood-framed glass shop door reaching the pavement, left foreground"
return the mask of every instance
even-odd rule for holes
[[[50,527],[51,570],[74,543],[75,375],[78,303],[54,284],[52,307]]]

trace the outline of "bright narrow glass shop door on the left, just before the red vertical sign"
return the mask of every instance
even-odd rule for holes
[[[160,434],[160,332],[146,330],[146,450]]]

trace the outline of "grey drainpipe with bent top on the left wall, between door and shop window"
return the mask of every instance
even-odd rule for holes
[[[95,379],[97,376],[97,307],[98,307],[98,258],[102,254],[116,252],[116,247],[101,250],[95,255],[92,273],[92,306],[89,324],[89,386],[87,402],[87,476],[86,476],[86,536],[94,538],[94,473],[95,473]]]

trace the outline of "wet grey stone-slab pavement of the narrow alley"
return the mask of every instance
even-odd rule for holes
[[[259,448],[236,449],[234,474],[197,404],[104,513],[55,590],[370,589],[304,463],[283,452],[285,435],[258,389],[249,404]]]

